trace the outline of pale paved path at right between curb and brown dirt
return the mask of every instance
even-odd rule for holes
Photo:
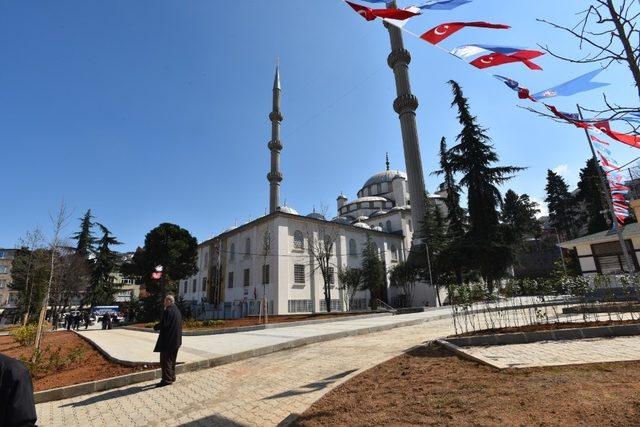
[[[575,365],[640,360],[640,337],[541,341],[530,344],[465,347],[463,351],[498,368]]]

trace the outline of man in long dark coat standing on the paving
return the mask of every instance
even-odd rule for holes
[[[160,331],[156,348],[153,351],[160,353],[162,381],[158,387],[164,387],[176,381],[176,359],[178,349],[182,345],[182,315],[176,307],[173,295],[165,297],[162,319],[153,329]]]

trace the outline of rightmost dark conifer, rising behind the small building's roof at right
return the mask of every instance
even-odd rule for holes
[[[587,160],[587,164],[580,170],[580,182],[578,182],[578,201],[584,202],[586,208],[586,222],[588,234],[604,231],[609,228],[607,225],[608,206],[602,194],[602,185],[598,168],[600,166],[592,157]],[[605,214],[603,215],[603,211]],[[607,215],[605,217],[605,215]]]

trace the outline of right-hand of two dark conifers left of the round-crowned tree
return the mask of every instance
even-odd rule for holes
[[[91,274],[89,300],[92,307],[113,302],[118,288],[113,283],[111,273],[118,265],[118,255],[111,250],[111,246],[121,244],[107,227],[100,223],[96,225],[100,228],[102,237],[96,242],[96,259]]]

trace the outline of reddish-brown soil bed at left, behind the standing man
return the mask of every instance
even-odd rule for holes
[[[82,353],[83,356],[81,361],[73,366],[69,366],[60,371],[48,372],[42,378],[33,378],[35,391],[117,377],[119,375],[155,368],[155,366],[151,365],[146,367],[128,367],[112,363],[73,332],[47,333],[44,336],[42,348],[46,348],[47,345],[54,350],[61,347],[62,355],[66,355],[70,350],[81,346],[84,350]],[[0,353],[17,359],[20,356],[29,357],[32,352],[33,347],[20,347],[11,336],[0,336]]]

